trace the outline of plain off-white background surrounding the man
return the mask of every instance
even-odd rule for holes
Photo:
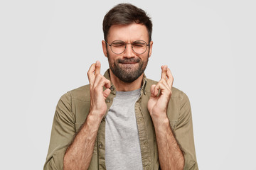
[[[1,168],[43,169],[55,106],[87,84],[122,1],[1,1]],[[130,1],[153,21],[146,76],[168,64],[191,101],[200,169],[256,169],[255,1]]]

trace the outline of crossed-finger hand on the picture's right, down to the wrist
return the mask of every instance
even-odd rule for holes
[[[166,66],[161,67],[161,79],[158,84],[151,86],[151,96],[148,102],[148,110],[154,125],[161,125],[167,118],[167,107],[171,98],[171,87],[174,77],[171,70]]]

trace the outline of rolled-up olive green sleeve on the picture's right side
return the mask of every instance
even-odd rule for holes
[[[193,123],[191,115],[191,105],[188,96],[181,92],[181,107],[178,116],[178,122],[175,128],[176,140],[183,151],[185,165],[184,169],[196,170],[196,151],[193,139]]]

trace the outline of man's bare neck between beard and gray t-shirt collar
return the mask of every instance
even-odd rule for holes
[[[138,79],[132,81],[131,83],[127,83],[118,79],[110,69],[110,80],[112,81],[112,84],[117,91],[134,91],[141,88],[143,75],[144,74],[142,74]]]

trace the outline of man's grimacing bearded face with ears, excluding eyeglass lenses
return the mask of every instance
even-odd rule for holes
[[[107,43],[111,44],[114,40],[122,40],[126,43],[132,43],[136,40],[144,40],[149,44],[149,35],[146,26],[142,24],[132,23],[127,26],[114,25],[109,30]],[[141,55],[138,55],[132,50],[132,45],[127,45],[126,50],[117,55],[102,41],[102,46],[106,57],[110,64],[111,72],[121,81],[132,82],[138,79],[146,69],[147,62],[151,55],[151,46],[149,46]]]

